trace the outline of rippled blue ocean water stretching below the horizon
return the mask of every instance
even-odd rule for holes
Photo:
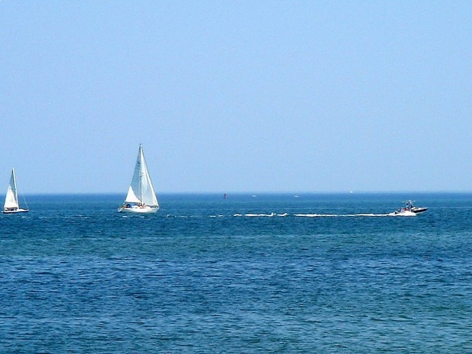
[[[472,194],[123,197],[0,216],[1,353],[472,352]]]

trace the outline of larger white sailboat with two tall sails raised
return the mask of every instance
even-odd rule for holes
[[[155,196],[151,176],[144,159],[144,153],[140,144],[133,178],[124,204],[119,207],[119,212],[157,212],[159,210],[158,199]]]

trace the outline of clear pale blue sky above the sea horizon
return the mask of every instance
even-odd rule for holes
[[[0,121],[5,191],[472,191],[472,1],[0,0]]]

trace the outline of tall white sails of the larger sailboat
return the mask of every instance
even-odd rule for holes
[[[137,153],[135,171],[133,173],[133,178],[131,178],[125,203],[137,203],[140,206],[147,205],[152,207],[154,211],[159,208],[158,198],[155,196],[155,190],[151,181],[151,176],[149,176],[141,144],[140,151]],[[137,212],[138,210],[129,211]]]

